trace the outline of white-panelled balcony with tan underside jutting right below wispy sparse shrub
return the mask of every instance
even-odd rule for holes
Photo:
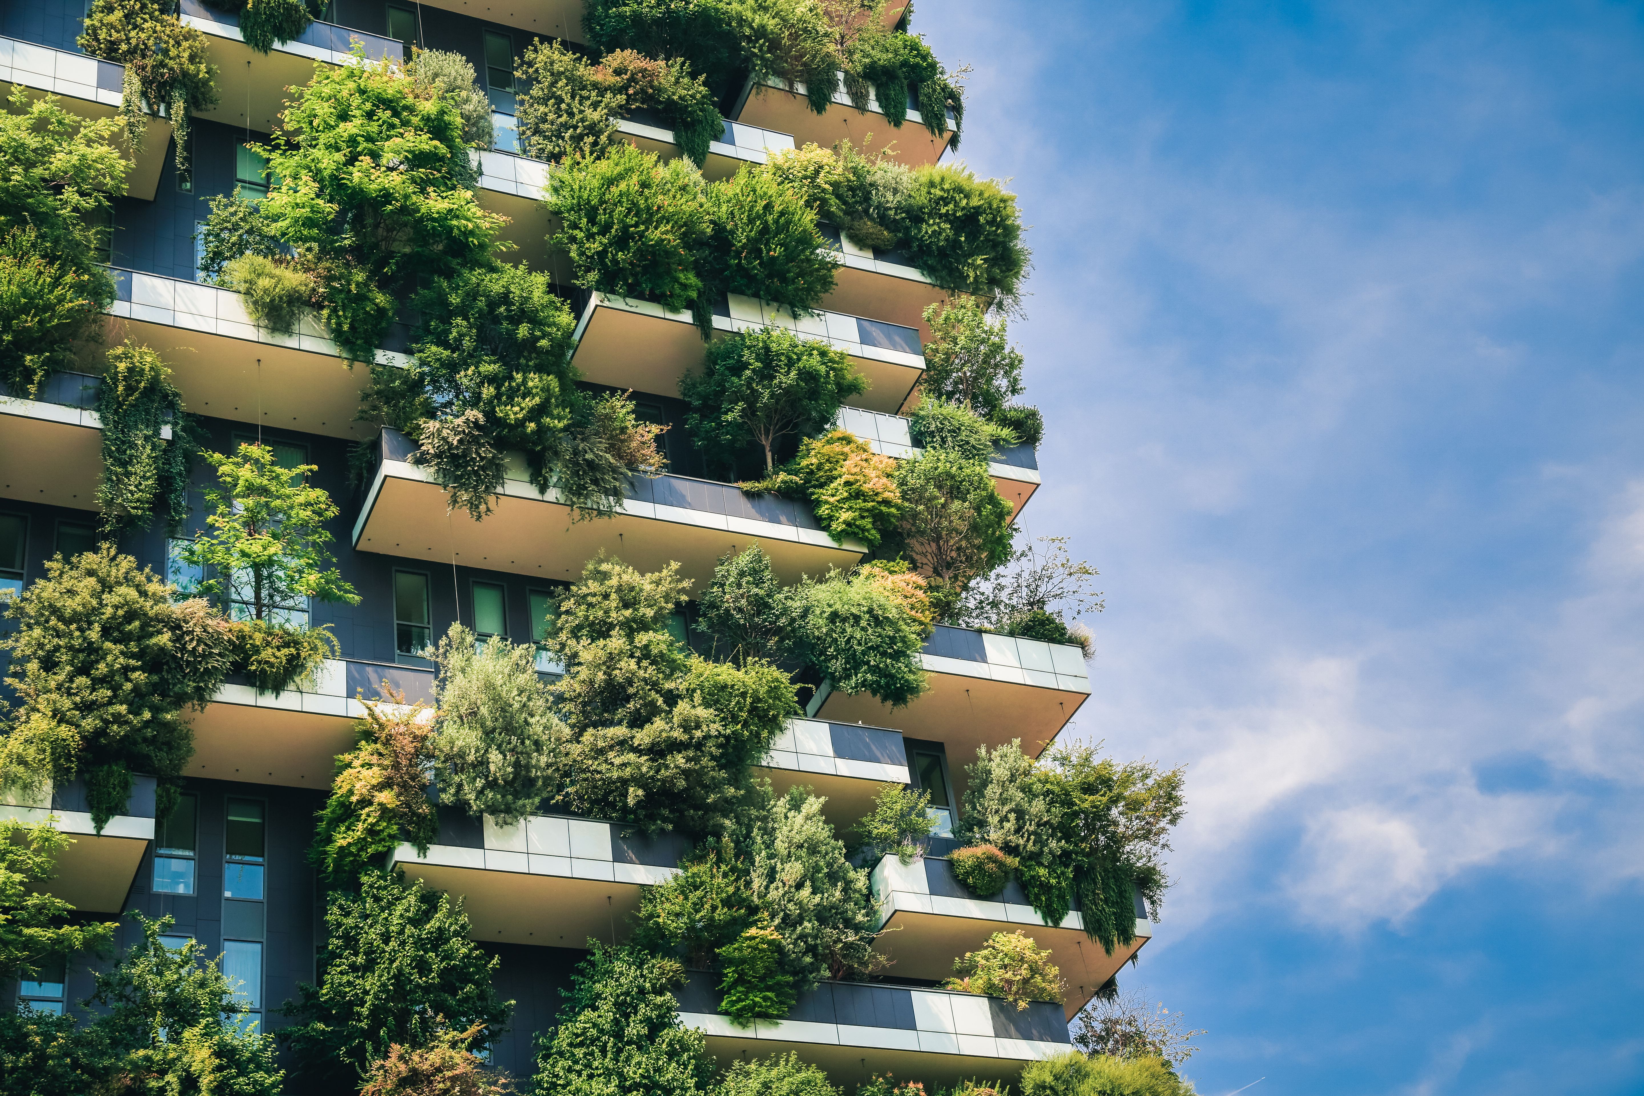
[[[1090,695],[1085,657],[1070,644],[937,624],[921,654],[931,687],[899,711],[822,682],[806,711],[837,723],[896,723],[909,738],[947,744],[960,767],[978,746],[1023,739],[1037,756]]]

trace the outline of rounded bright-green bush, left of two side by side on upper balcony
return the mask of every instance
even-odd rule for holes
[[[554,174],[544,199],[562,227],[575,283],[684,311],[702,291],[695,256],[707,238],[702,176],[682,161],[659,161],[631,145],[607,156],[575,154]]]

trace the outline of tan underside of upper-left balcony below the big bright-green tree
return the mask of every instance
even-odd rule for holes
[[[210,286],[196,289],[217,294]],[[122,302],[123,304],[123,302]],[[202,306],[206,307],[206,306]],[[271,335],[250,324],[214,317],[191,317],[181,312],[159,319],[159,311],[146,312],[130,306],[132,317],[109,319],[109,343],[125,338],[146,343],[171,368],[171,380],[182,393],[182,403],[194,414],[258,422],[302,434],[326,437],[368,437],[376,427],[353,421],[360,394],[370,386],[370,368],[349,365],[334,350],[279,345],[329,345],[306,335]],[[143,319],[145,315],[155,319]],[[243,329],[242,337],[182,327],[184,322],[212,324],[219,330]]]

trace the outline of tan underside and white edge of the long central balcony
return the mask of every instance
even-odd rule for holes
[[[385,460],[355,526],[353,547],[408,559],[506,570],[574,582],[602,549],[641,572],[679,562],[681,575],[704,588],[722,555],[758,542],[783,582],[848,567],[861,546],[834,544],[825,534],[778,523],[748,521],[630,500],[626,513],[570,524],[570,508],[508,480],[495,513],[473,521],[449,513],[446,493],[423,470]],[[654,516],[653,516],[654,514]]]

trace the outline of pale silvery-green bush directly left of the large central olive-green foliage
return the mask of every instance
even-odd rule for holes
[[[513,825],[554,792],[564,725],[536,675],[536,647],[452,624],[434,651],[439,702],[434,751],[441,802]]]

